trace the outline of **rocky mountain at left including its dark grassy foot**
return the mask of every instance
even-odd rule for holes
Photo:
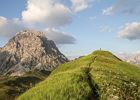
[[[0,48],[0,100],[15,100],[67,61],[42,32],[18,32]]]

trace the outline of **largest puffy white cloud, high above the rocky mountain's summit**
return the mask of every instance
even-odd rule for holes
[[[28,0],[22,19],[26,23],[61,27],[72,22],[72,12],[60,0]]]

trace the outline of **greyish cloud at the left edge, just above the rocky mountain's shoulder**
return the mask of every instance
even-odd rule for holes
[[[12,37],[16,32],[24,29],[19,19],[8,20],[0,16],[0,37]]]

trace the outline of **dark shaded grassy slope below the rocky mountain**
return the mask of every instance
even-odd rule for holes
[[[44,80],[49,73],[30,72],[22,77],[0,77],[0,100],[14,100],[36,83]]]

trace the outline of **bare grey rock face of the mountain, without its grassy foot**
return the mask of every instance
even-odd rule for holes
[[[42,32],[25,30],[0,48],[0,74],[21,76],[33,70],[52,71],[68,61]]]

